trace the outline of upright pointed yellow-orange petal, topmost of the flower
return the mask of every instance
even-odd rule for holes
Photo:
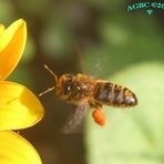
[[[27,41],[27,24],[20,19],[0,32],[0,80],[18,64]]]

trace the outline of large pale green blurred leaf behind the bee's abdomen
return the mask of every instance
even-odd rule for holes
[[[112,82],[136,94],[139,105],[104,107],[106,126],[86,120],[89,164],[164,163],[164,65],[141,63],[115,74]]]

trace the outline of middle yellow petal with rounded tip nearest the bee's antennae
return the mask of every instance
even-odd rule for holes
[[[32,126],[43,114],[40,101],[27,88],[13,82],[0,82],[0,131]]]

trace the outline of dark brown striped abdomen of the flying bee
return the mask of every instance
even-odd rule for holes
[[[110,82],[98,82],[95,84],[94,100],[112,106],[133,106],[137,103],[132,91]]]

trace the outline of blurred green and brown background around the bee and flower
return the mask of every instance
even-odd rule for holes
[[[84,72],[132,89],[139,105],[104,107],[107,124],[91,116],[82,133],[60,133],[75,106],[49,93],[40,100],[45,117],[20,133],[44,164],[164,163],[164,11],[126,12],[119,0],[1,0],[0,21],[28,23],[24,55],[9,80],[35,94],[52,86],[47,63],[58,75]]]

